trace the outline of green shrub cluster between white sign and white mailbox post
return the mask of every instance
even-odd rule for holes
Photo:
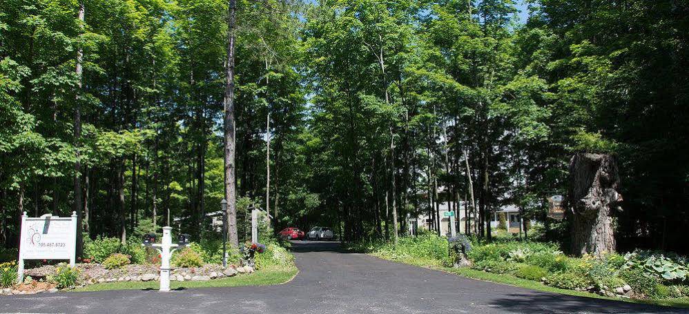
[[[98,237],[84,243],[84,257],[93,257],[98,263],[103,263],[115,253],[129,255],[133,264],[146,262],[146,249],[135,239],[130,239],[124,245],[116,237]]]

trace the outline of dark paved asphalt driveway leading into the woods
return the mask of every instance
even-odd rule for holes
[[[0,297],[0,313],[689,313],[531,291],[295,242],[300,273],[276,286]]]

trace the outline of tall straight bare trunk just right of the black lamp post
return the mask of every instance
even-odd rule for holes
[[[239,248],[237,235],[237,187],[235,180],[235,24],[237,1],[229,0],[227,20],[227,66],[225,70],[224,95],[224,141],[225,141],[225,197],[227,199],[227,232],[230,245]]]

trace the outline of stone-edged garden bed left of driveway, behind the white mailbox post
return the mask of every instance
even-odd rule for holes
[[[293,255],[278,242],[270,242],[267,245],[247,243],[242,248],[242,256],[232,255],[231,265],[227,267],[220,265],[218,252],[222,253],[217,244],[201,246],[195,243],[176,251],[171,260],[170,281],[209,282],[224,277],[250,274],[255,268],[278,271],[275,280],[295,273]],[[0,264],[0,295],[57,292],[93,284],[108,286],[107,284],[114,283],[110,286],[117,288],[117,283],[131,282],[132,284],[121,286],[150,286],[153,282],[159,281],[159,255],[155,250],[146,250],[140,244],[120,244],[118,239],[99,238],[88,242],[84,256],[86,257],[80,259],[81,263],[74,267],[61,263],[28,268],[24,271],[23,282],[19,283],[17,263],[12,261]],[[50,263],[43,261],[46,262]],[[275,280],[269,279],[267,282]],[[251,282],[247,281],[249,284]],[[259,279],[254,282],[262,281]]]

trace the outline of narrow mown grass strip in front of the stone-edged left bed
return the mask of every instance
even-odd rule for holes
[[[234,277],[224,277],[213,279],[206,282],[170,282],[170,288],[206,288],[206,287],[233,287],[233,286],[269,286],[273,284],[284,284],[289,282],[298,269],[296,267],[259,270],[249,275],[242,274]],[[128,290],[128,289],[153,289],[160,287],[159,282],[104,282],[101,284],[90,284],[81,288],[70,290],[70,292],[84,291],[106,291],[106,290]]]

